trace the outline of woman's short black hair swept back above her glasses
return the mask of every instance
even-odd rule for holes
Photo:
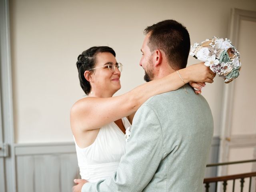
[[[91,47],[85,50],[77,58],[76,67],[78,69],[78,77],[80,80],[80,86],[84,90],[85,94],[88,95],[91,91],[90,82],[84,78],[84,72],[95,67],[96,55],[102,52],[110,52],[116,57],[115,51],[108,46]]]

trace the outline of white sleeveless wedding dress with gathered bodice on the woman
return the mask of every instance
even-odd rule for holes
[[[122,118],[122,122],[126,130],[131,126],[127,118]],[[80,148],[76,144],[81,178],[97,182],[110,177],[118,168],[125,153],[125,145],[124,133],[114,122],[100,128],[96,140],[90,146]]]

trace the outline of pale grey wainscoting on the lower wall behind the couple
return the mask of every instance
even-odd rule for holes
[[[218,161],[219,138],[213,138],[209,163]],[[78,166],[74,143],[16,144],[18,192],[70,192]],[[206,168],[206,177],[216,176]]]

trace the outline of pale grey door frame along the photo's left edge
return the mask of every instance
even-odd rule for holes
[[[0,132],[1,140],[9,151],[7,157],[1,157],[4,164],[4,180],[0,183],[4,182],[5,192],[16,192],[9,15],[9,1],[0,0]]]

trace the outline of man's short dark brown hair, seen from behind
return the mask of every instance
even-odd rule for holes
[[[174,70],[185,68],[190,50],[188,30],[175,20],[164,20],[144,30],[150,33],[148,46],[150,51],[162,50]]]

